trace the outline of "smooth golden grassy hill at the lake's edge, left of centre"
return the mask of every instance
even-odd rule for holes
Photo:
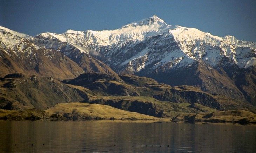
[[[89,103],[56,104],[46,110],[51,116],[63,116],[68,120],[122,119],[122,120],[160,120],[160,118],[117,109],[108,105]]]

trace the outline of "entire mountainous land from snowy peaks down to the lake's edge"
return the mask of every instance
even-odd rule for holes
[[[0,119],[108,118],[122,114],[115,107],[175,121],[255,123],[256,45],[155,15],[115,30],[35,37],[0,27],[0,91]]]

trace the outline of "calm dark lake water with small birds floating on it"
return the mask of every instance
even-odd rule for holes
[[[255,125],[0,121],[0,136],[0,152],[256,152]]]

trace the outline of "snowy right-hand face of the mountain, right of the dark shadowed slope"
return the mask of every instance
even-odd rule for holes
[[[235,39],[220,38],[204,33],[194,28],[180,28],[172,30],[176,42],[188,55],[195,57],[215,67],[223,57],[228,57],[238,67],[247,68],[255,65],[255,43],[243,42]],[[229,37],[230,38],[230,37]],[[239,54],[239,56],[237,55]],[[248,56],[249,55],[249,56]],[[245,61],[250,61],[245,64]]]

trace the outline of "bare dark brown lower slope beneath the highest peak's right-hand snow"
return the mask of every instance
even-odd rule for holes
[[[250,90],[247,90],[247,92],[243,91],[241,87],[246,85],[245,83],[238,83],[239,76],[237,73],[234,73],[234,77],[230,77],[224,72],[224,74],[219,73],[218,71],[214,69],[207,68],[206,65],[202,65],[200,63],[191,65],[188,68],[183,68],[179,70],[171,70],[171,71],[155,71],[151,74],[145,74],[146,72],[141,71],[140,73],[136,73],[140,76],[148,76],[150,78],[156,79],[157,81],[161,83],[166,83],[171,86],[180,86],[180,85],[189,85],[189,86],[195,86],[201,88],[202,91],[208,92],[210,94],[221,94],[226,95],[230,97],[234,97],[235,99],[238,99],[240,101],[245,102],[247,97],[247,100],[249,100],[249,96],[245,95],[251,95],[253,97],[254,94],[252,94],[252,88],[254,88],[255,83],[253,82],[254,74],[251,75],[253,79],[250,79],[250,83],[248,83],[248,86],[250,84]],[[253,73],[253,72],[251,72]],[[244,80],[244,77],[242,79],[242,76],[240,76],[239,81]],[[247,73],[246,73],[247,74]],[[248,74],[247,74],[248,75]],[[249,79],[249,78],[248,78]],[[237,81],[235,81],[237,80]],[[237,83],[235,83],[237,82]],[[242,85],[243,84],[243,85]],[[247,93],[247,94],[245,94]],[[254,101],[249,100],[251,104],[254,103]],[[246,102],[245,102],[246,103]]]

